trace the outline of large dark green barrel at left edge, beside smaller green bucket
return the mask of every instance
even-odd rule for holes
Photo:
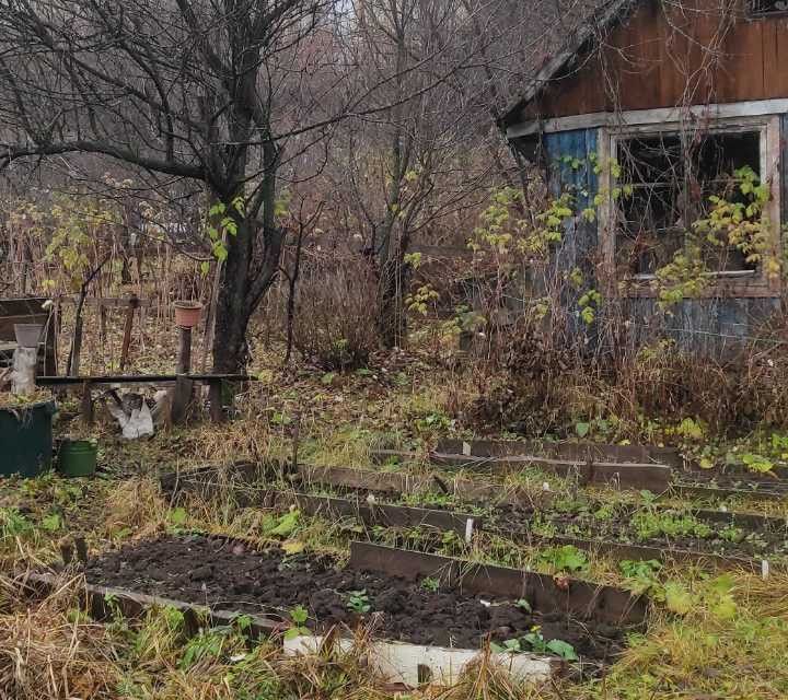
[[[37,477],[51,468],[55,401],[0,408],[0,476]]]

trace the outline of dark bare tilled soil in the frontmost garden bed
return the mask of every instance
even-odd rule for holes
[[[476,649],[487,635],[505,641],[535,626],[546,641],[568,642],[587,660],[610,660],[624,643],[625,630],[560,611],[531,614],[484,594],[432,592],[403,579],[338,569],[326,558],[254,551],[237,540],[201,535],[125,546],[90,561],[85,575],[90,583],[282,620],[302,605],[310,612],[308,626],[317,630],[374,618],[380,637],[415,644]],[[359,591],[370,605],[364,615],[348,607],[351,592]]]

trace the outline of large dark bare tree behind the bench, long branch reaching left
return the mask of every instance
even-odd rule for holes
[[[202,190],[224,230],[213,366],[240,370],[282,247],[297,50],[331,0],[0,0],[0,165],[89,153]],[[286,108],[280,103],[287,98]]]

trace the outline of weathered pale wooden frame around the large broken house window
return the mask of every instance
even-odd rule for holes
[[[631,116],[629,116],[631,115]],[[603,253],[603,265],[605,277],[610,283],[607,292],[614,296],[654,296],[656,291],[651,282],[656,279],[653,275],[619,276],[616,267],[616,237],[618,230],[618,206],[611,196],[611,192],[618,187],[618,183],[606,165],[616,162],[618,154],[618,142],[633,138],[649,138],[659,136],[671,136],[682,129],[698,128],[683,126],[682,124],[646,124],[637,125],[634,119],[637,113],[621,115],[621,120],[626,118],[627,126],[602,127],[600,129],[600,163],[603,164],[600,173],[599,191],[605,195],[605,201],[600,206],[600,242]],[[742,133],[758,132],[761,137],[760,167],[757,170],[761,182],[769,184],[772,198],[764,207],[764,218],[769,222],[772,244],[778,256],[781,256],[780,242],[780,124],[778,115],[765,115],[756,117],[730,117],[710,119],[704,127],[704,133]],[[751,296],[765,298],[778,296],[780,292],[779,279],[769,278],[763,268],[758,266],[755,270],[721,270],[709,272],[715,278],[715,283],[709,284],[704,291],[704,296]]]

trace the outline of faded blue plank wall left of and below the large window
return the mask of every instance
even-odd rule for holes
[[[593,172],[589,155],[598,150],[599,130],[578,129],[543,135],[543,148],[551,172],[551,189],[558,195],[567,187],[576,194],[576,210],[582,211],[593,202],[599,191],[599,179]],[[783,117],[783,207],[784,221],[788,221],[788,115]],[[569,159],[577,159],[582,165],[573,168]],[[588,222],[577,215],[567,222],[565,237],[558,247],[553,265],[558,275],[579,267],[584,277],[580,290],[565,285],[561,304],[569,313],[569,329],[578,337],[584,336],[591,347],[604,346],[610,339],[598,337],[596,327],[587,327],[579,318],[578,299],[589,289],[603,291],[604,280],[596,277],[600,269],[601,249],[599,246],[598,223]],[[604,292],[603,292],[604,294]],[[669,337],[688,351],[699,354],[721,357],[734,349],[742,337],[752,337],[757,326],[770,314],[780,308],[779,299],[685,299],[665,316],[659,311],[656,299],[648,298],[607,298],[603,301],[603,318],[607,313],[617,314],[629,320],[625,342],[633,348]],[[621,338],[616,338],[621,342]],[[604,348],[601,348],[604,349]]]

